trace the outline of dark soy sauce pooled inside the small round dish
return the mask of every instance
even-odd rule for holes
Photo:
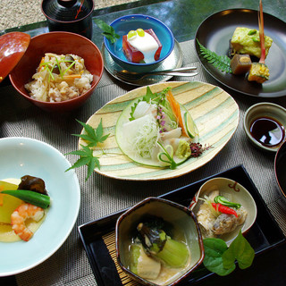
[[[285,137],[283,125],[271,117],[259,117],[250,124],[250,134],[265,147],[276,147]]]

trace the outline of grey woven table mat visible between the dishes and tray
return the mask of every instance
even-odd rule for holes
[[[194,41],[182,42],[180,45],[183,53],[183,66],[197,66],[198,75],[192,78],[173,78],[172,80],[199,80],[218,85],[218,82],[210,77],[198,62]],[[38,139],[66,154],[77,149],[78,139],[71,134],[80,133],[81,126],[75,119],[87,122],[88,118],[105,103],[133,88],[114,80],[105,71],[92,97],[79,110],[71,114],[44,113],[20,97],[12,86],[1,88],[0,138],[29,137]],[[225,90],[240,106],[239,126],[223,150],[200,169],[172,180],[144,182],[114,180],[96,172],[88,181],[85,181],[87,168],[77,169],[81,189],[81,205],[80,214],[71,235],[63,246],[44,263],[16,275],[18,285],[97,285],[80,241],[77,230],[80,224],[113,214],[134,205],[143,198],[162,195],[172,189],[181,188],[238,164],[244,165],[286,235],[286,210],[282,205],[281,198],[274,191],[274,154],[265,154],[250,145],[243,130],[243,115],[250,105],[258,102],[258,99]],[[272,102],[286,105],[284,99],[278,98]],[[67,156],[67,158],[71,164],[77,160],[77,156]]]

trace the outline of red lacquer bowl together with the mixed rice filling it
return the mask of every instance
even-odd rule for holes
[[[30,39],[9,77],[32,104],[49,112],[70,112],[90,97],[104,70],[98,47],[70,32],[49,32]]]

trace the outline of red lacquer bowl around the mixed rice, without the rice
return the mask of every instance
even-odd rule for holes
[[[29,97],[24,85],[31,80],[45,53],[73,54],[82,57],[87,70],[93,74],[91,88],[80,97],[63,102],[43,102]],[[103,71],[102,55],[98,47],[88,38],[70,32],[50,32],[31,38],[26,53],[9,76],[13,87],[34,105],[49,112],[70,112],[84,104],[88,97],[93,94]]]

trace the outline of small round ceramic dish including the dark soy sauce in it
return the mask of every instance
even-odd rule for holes
[[[276,152],[286,139],[286,109],[269,102],[252,105],[244,115],[243,127],[256,147]]]

